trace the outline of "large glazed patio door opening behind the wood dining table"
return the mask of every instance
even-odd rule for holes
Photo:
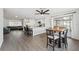
[[[72,24],[72,16],[65,16],[65,17],[60,17],[60,18],[54,19],[54,26],[66,27],[69,31],[68,33],[70,33],[70,34],[71,34],[71,31],[72,31],[71,30],[71,24]]]

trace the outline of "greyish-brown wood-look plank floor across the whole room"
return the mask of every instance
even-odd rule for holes
[[[46,34],[27,36],[23,31],[12,31],[4,35],[4,42],[0,51],[52,51],[46,48]],[[55,48],[56,51],[79,51],[79,41],[68,39],[68,48]]]

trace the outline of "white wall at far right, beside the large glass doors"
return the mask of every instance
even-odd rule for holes
[[[72,38],[79,40],[79,9],[73,14],[72,20]]]

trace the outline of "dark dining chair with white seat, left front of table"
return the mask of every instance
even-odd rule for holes
[[[53,48],[53,51],[55,50],[55,46],[57,45],[57,41],[59,39],[58,36],[54,35],[54,32],[52,30],[46,29],[46,34],[47,34],[47,47],[48,45]]]

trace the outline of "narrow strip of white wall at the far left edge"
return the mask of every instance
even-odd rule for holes
[[[3,43],[3,9],[0,8],[0,47]]]

